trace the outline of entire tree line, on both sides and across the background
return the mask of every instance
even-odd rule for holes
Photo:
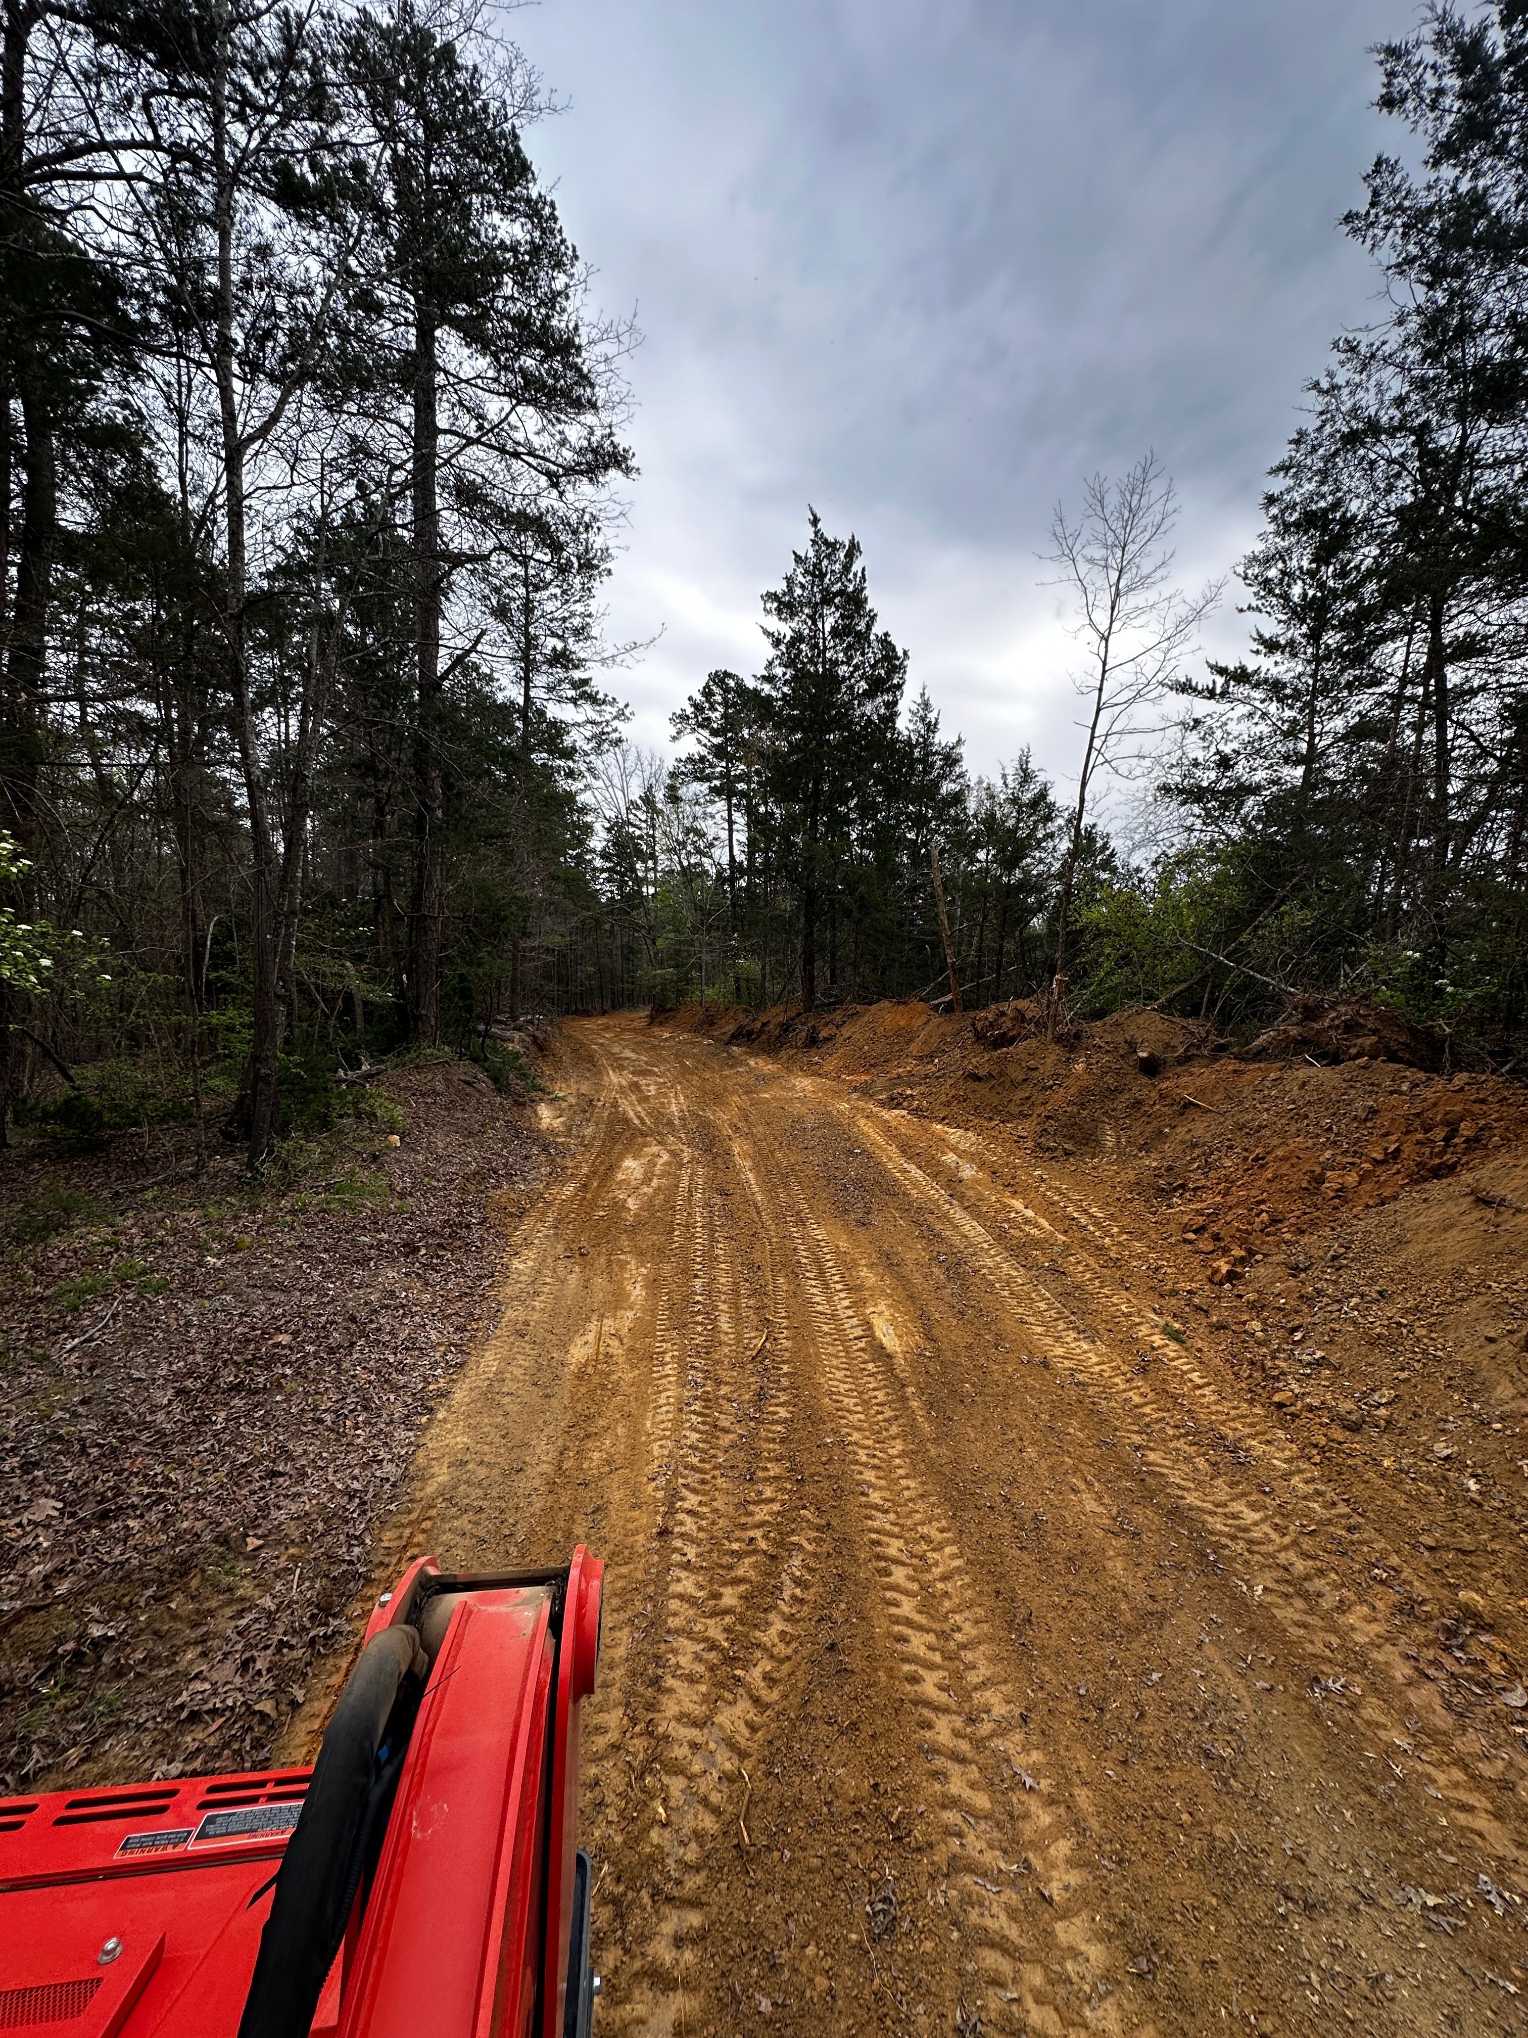
[[[1269,477],[1247,654],[1194,656],[1155,463],[1098,477],[1055,524],[1088,740],[1053,791],[966,768],[815,514],[758,668],[697,675],[676,760],[623,742],[632,332],[511,45],[414,0],[10,4],[0,1123],[216,1117],[259,1162],[336,1062],[499,1068],[522,1011],[685,997],[1235,1027],[1363,990],[1512,1056],[1528,18],[1436,8],[1379,73],[1406,163],[1345,230],[1383,316]],[[1114,569],[1139,601],[1100,609]]]

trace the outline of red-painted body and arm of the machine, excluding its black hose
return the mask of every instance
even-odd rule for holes
[[[489,1577],[422,1559],[377,1604],[367,1643],[460,1594],[314,2038],[587,2030],[579,1706],[595,1687],[601,1571],[583,1549],[566,1571]],[[0,1802],[0,2032],[234,2038],[312,1777]]]

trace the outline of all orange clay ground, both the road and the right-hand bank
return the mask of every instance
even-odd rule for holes
[[[1520,1092],[1008,1019],[566,1025],[375,1577],[609,1557],[605,2032],[1522,2034]]]

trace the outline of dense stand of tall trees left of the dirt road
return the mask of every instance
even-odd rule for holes
[[[554,995],[509,980],[595,901],[632,461],[538,100],[412,0],[6,10],[0,825],[53,964],[12,1109],[39,1052],[198,1113],[206,1072],[259,1160],[336,1041]]]

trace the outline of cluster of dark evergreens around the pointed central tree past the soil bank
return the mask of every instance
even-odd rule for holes
[[[764,595],[764,675],[715,671],[674,715],[672,772],[625,754],[607,779],[603,878],[640,940],[627,995],[758,1003],[1033,986],[1055,887],[1055,801],[1021,754],[970,781],[960,738],[878,628],[854,538],[815,516]]]

